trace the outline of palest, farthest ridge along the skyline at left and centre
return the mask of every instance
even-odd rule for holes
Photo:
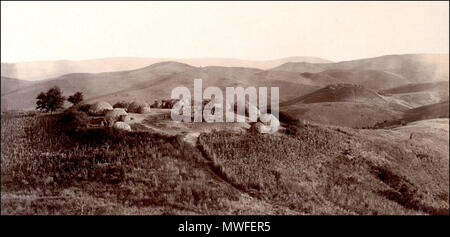
[[[4,77],[19,78],[22,80],[43,80],[56,78],[71,73],[102,73],[114,71],[134,70],[151,64],[173,61],[189,64],[195,67],[221,66],[221,67],[248,67],[270,69],[286,62],[331,63],[331,61],[318,57],[288,57],[274,60],[244,60],[234,58],[139,58],[116,57],[89,59],[80,61],[56,60],[18,63],[1,63],[1,74]]]

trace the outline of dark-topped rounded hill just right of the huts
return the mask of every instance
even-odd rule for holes
[[[329,85],[280,103],[280,110],[295,118],[357,128],[400,118],[408,109],[374,90],[353,84]]]

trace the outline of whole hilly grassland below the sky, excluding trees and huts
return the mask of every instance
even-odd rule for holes
[[[44,63],[33,77],[56,76],[31,81],[2,63],[2,214],[448,215],[448,55],[294,59]],[[197,78],[203,89],[279,87],[277,132],[150,108],[178,86],[193,95]],[[54,86],[83,103],[37,112]],[[123,109],[112,121],[123,131],[91,114],[100,103]]]

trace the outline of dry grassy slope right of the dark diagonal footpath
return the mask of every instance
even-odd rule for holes
[[[295,135],[218,132],[199,142],[224,179],[272,205],[307,214],[448,215],[448,153],[443,166],[436,161],[445,157],[429,147],[411,151],[371,136],[304,126]]]

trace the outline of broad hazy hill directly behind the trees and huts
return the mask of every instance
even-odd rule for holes
[[[88,102],[105,100],[144,100],[170,98],[177,86],[193,91],[193,80],[203,79],[203,87],[217,86],[278,86],[282,100],[302,93],[310,93],[319,87],[303,85],[299,75],[293,73],[264,73],[265,71],[242,67],[194,67],[177,62],[161,62],[137,70],[107,73],[73,73],[56,79],[45,80],[20,90],[2,95],[2,109],[33,109],[35,97],[40,91],[58,86],[64,95],[82,91]]]

